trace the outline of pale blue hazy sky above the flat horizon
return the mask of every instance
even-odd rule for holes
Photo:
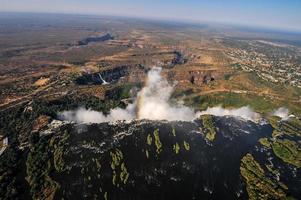
[[[0,0],[0,12],[131,16],[301,31],[301,0]]]

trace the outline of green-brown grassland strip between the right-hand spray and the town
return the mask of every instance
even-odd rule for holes
[[[250,106],[254,111],[263,114],[268,114],[279,107],[287,107],[291,113],[300,115],[299,88],[276,86],[259,80],[253,74],[245,74],[239,79],[235,79],[235,76],[241,75],[234,75],[231,80],[215,83],[199,94],[186,95],[186,103],[200,110],[219,105],[225,108]],[[235,85],[232,84],[233,82]]]

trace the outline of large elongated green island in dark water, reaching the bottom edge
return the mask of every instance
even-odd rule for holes
[[[264,170],[251,154],[241,160],[240,173],[243,176],[249,199],[284,199],[286,194],[278,182],[265,176]]]

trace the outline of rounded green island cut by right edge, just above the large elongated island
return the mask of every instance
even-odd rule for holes
[[[276,140],[272,144],[273,151],[277,157],[284,162],[301,167],[301,149],[297,142],[291,140]]]

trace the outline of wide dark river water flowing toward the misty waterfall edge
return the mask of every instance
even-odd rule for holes
[[[200,121],[68,125],[71,137],[64,159],[70,170],[55,174],[61,185],[56,198],[103,198],[106,192],[108,199],[247,199],[240,161],[254,152],[259,138],[271,135],[272,128],[225,117],[214,122],[213,142],[205,139]],[[153,136],[156,129],[162,144],[159,154]],[[152,145],[147,144],[148,135]],[[178,154],[173,149],[176,143]],[[116,149],[122,152],[121,162],[129,173],[126,184],[119,179],[120,167],[115,170],[117,184],[112,183],[110,152]],[[101,163],[100,171],[95,158]]]

